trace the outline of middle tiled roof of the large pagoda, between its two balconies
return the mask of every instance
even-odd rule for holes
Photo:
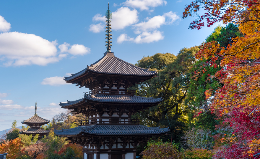
[[[67,101],[66,103],[60,102],[61,107],[68,107],[75,104],[78,104],[80,102],[83,102],[84,100],[91,100],[95,102],[113,102],[113,103],[159,103],[163,101],[162,98],[153,98],[153,97],[140,97],[137,95],[133,96],[126,96],[126,95],[90,95],[85,96],[82,99],[75,100],[75,101]]]

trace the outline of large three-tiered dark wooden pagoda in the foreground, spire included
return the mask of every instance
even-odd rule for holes
[[[109,5],[109,4],[108,4]],[[81,120],[79,127],[54,130],[70,143],[83,146],[83,159],[135,159],[139,143],[153,136],[164,135],[169,128],[139,125],[139,119],[131,115],[138,111],[158,105],[162,98],[140,97],[134,95],[130,86],[149,80],[157,75],[125,62],[111,52],[111,11],[106,11],[106,47],[104,56],[82,71],[64,77],[67,83],[86,87],[84,98],[76,101],[60,102],[60,106],[82,113],[88,118]]]

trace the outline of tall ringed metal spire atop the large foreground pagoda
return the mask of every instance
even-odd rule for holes
[[[112,36],[112,34],[110,34],[112,31],[110,30],[111,29],[111,21],[109,20],[109,19],[112,19],[112,13],[111,13],[111,11],[109,10],[109,3],[108,3],[108,10],[106,11],[106,18],[108,19],[108,20],[106,20],[106,43],[108,43],[108,44],[106,44],[105,46],[107,47],[107,52],[111,52],[111,46],[112,46],[112,44],[110,44],[110,43],[112,43],[112,41],[111,41],[111,37],[110,36]]]

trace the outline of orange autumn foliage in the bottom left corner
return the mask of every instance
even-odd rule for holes
[[[25,155],[21,139],[16,138],[11,141],[4,141],[4,143],[0,145],[0,154],[2,153],[8,153],[6,159],[14,159],[21,155]]]

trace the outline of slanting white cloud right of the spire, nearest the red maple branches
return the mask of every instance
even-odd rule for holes
[[[165,24],[173,24],[176,20],[180,19],[180,17],[173,13],[172,11],[163,14],[162,16],[154,16],[152,18],[146,18],[147,21],[140,22],[135,24],[133,27],[136,28],[136,33],[140,34],[141,31],[150,31],[152,29],[160,28]]]

